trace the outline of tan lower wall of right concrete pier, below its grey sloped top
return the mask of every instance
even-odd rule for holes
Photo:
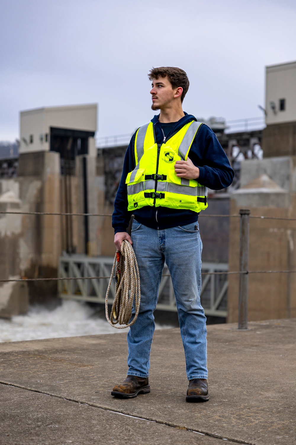
[[[250,206],[251,215],[296,217],[292,208]],[[238,214],[241,205],[231,200],[230,213]],[[240,220],[230,218],[229,271],[239,270]],[[283,220],[250,219],[249,271],[296,270],[295,223]],[[249,320],[271,320],[296,316],[296,274],[249,274]],[[228,322],[238,317],[239,275],[229,275]]]

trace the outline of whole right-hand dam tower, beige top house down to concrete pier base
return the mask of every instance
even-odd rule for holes
[[[296,61],[266,67],[263,160],[241,162],[230,214],[296,218]],[[239,218],[230,218],[229,270],[238,271]],[[250,219],[249,270],[295,271],[293,221]],[[239,276],[229,275],[228,321],[237,321]],[[296,274],[250,274],[249,320],[296,317]]]

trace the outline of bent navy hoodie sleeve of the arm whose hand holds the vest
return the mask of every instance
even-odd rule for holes
[[[199,168],[198,182],[211,190],[221,190],[233,182],[234,171],[216,134],[202,125],[189,151],[189,158]]]

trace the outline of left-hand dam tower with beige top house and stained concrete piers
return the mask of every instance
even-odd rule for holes
[[[21,112],[18,175],[1,179],[1,209],[104,213],[96,129],[96,104]],[[0,261],[1,279],[56,277],[63,252],[100,255],[103,223],[100,217],[1,215],[0,247],[5,252]],[[18,286],[0,286],[0,316],[24,312],[28,298],[42,303],[56,295],[56,282],[31,282],[22,292]],[[15,300],[16,295],[20,301]]]

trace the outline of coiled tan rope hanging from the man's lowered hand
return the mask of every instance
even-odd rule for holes
[[[115,298],[112,304],[111,315],[108,315],[108,296],[115,271]],[[135,299],[135,315],[132,317],[133,300]],[[105,300],[106,318],[114,328],[124,329],[132,326],[138,317],[140,309],[140,276],[134,249],[128,241],[123,240],[121,252],[116,252],[111,277]],[[119,324],[119,326],[117,326]]]

